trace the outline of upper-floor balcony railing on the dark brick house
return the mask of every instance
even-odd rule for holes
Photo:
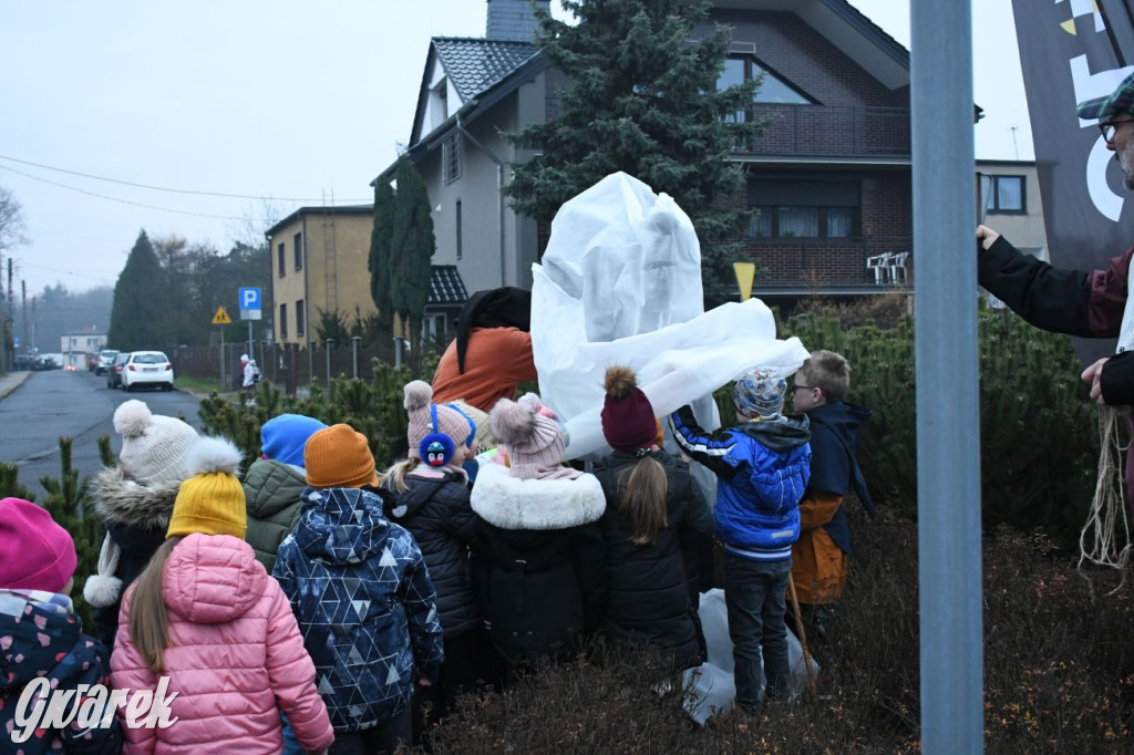
[[[767,124],[748,149],[737,149],[739,154],[909,156],[906,108],[754,104],[746,117]]]

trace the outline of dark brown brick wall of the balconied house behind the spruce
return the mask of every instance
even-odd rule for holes
[[[777,116],[754,145],[756,154],[887,155],[909,154],[909,88],[891,91],[838,48],[787,11],[717,10],[712,22],[733,27],[733,40],[752,43],[755,59],[802,90],[822,108],[758,105],[758,117]],[[700,28],[697,36],[708,32]],[[753,168],[753,171],[759,171]],[[767,285],[822,288],[870,283],[865,258],[886,252],[912,251],[913,214],[908,168],[894,170],[824,170],[812,162],[793,169],[807,178],[857,180],[861,186],[860,236],[854,238],[734,239],[738,260],[754,262]],[[721,206],[747,209],[747,195],[721,197]]]

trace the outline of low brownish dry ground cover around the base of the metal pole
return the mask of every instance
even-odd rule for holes
[[[920,752],[916,525],[892,509],[850,511],[855,553],[828,641],[814,647],[828,701],[768,705],[704,728],[645,654],[544,668],[505,694],[466,699],[434,731],[434,753]],[[1101,587],[1114,575],[1098,574]],[[985,750],[1132,749],[1134,645],[1128,593],[1091,602],[1074,560],[1007,529],[984,546]],[[595,655],[591,656],[592,659]]]

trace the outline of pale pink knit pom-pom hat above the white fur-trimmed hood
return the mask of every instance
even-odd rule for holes
[[[532,398],[527,398],[531,396]],[[562,465],[566,452],[562,429],[534,393],[516,402],[506,398],[497,401],[489,415],[492,432],[507,443],[511,461],[509,474],[521,480],[556,480],[578,477],[581,472]]]

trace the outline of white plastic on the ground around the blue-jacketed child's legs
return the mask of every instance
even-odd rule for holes
[[[790,610],[790,606],[788,606]],[[733,641],[728,636],[728,609],[725,606],[725,591],[710,589],[701,594],[701,628],[705,635],[709,660],[696,669],[688,669],[683,676],[685,710],[689,718],[704,724],[713,713],[727,713],[736,703],[736,681],[733,677]],[[789,684],[792,697],[807,689],[807,669],[803,664],[803,646],[790,631],[787,633],[787,660],[790,667]],[[811,659],[811,669],[819,677],[819,663]],[[767,679],[760,670],[760,689]]]

